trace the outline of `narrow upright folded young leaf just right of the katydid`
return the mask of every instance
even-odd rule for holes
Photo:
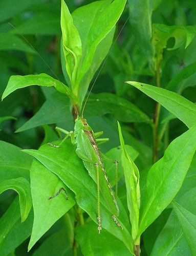
[[[136,240],[139,230],[139,210],[140,210],[140,185],[139,185],[139,170],[134,161],[128,155],[124,140],[122,137],[121,127],[118,122],[119,138],[122,148],[121,163],[124,170],[124,179],[126,184],[127,194],[127,206],[129,210],[130,223],[132,224],[132,238],[135,241],[135,245],[140,244],[139,240]]]

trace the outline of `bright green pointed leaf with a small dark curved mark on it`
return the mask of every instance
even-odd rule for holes
[[[43,145],[41,148],[46,148],[46,151],[49,150],[50,152],[52,147]],[[29,250],[40,237],[75,204],[72,191],[36,159],[33,161],[30,172],[34,221],[31,240],[28,246]],[[68,200],[66,200],[66,194],[63,190],[57,197],[48,200],[48,198],[56,194],[61,187],[66,189]]]

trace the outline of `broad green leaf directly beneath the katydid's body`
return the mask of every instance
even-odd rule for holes
[[[25,152],[34,156],[40,163],[50,170],[50,172],[57,175],[58,178],[74,192],[77,204],[89,214],[95,223],[97,223],[97,186],[89,176],[87,170],[84,168],[81,159],[76,155],[75,146],[71,144],[70,140],[65,141],[60,148],[43,145],[38,151],[25,150]],[[39,169],[37,172],[38,171]],[[52,193],[52,191],[50,193]],[[118,220],[122,223],[124,228],[123,230],[121,230],[120,227],[117,227],[114,223],[107,203],[105,202],[102,194],[100,196],[102,227],[113,233],[115,237],[120,239],[126,247],[132,251],[132,248],[130,247],[131,237],[127,230],[129,229],[129,223],[122,204],[118,201],[120,208],[120,216]],[[54,198],[53,201],[55,199],[57,198]],[[67,203],[67,201],[65,201],[66,200],[63,202],[64,204]],[[62,205],[58,207],[60,208]],[[48,221],[50,222],[50,220]],[[98,234],[98,230],[94,230],[94,233],[95,235]],[[31,246],[35,241],[36,239],[31,243]],[[29,245],[29,247],[31,246]]]

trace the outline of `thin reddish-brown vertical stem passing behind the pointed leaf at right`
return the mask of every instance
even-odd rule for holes
[[[160,63],[161,63],[161,60],[158,61],[158,59],[157,59],[156,62],[157,62],[157,65],[156,65],[156,86],[161,87],[161,84],[160,84]],[[161,107],[161,105],[158,102],[156,102],[155,116],[154,116],[154,158],[153,158],[154,163],[157,161],[157,154],[158,154],[158,148],[159,148],[158,127],[159,127],[160,107]]]

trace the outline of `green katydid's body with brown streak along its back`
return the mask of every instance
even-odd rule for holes
[[[118,226],[121,226],[116,217],[119,216],[119,207],[114,196],[111,184],[107,178],[105,168],[98,150],[94,132],[91,126],[86,122],[86,119],[77,117],[74,126],[74,135],[77,144],[76,154],[83,160],[85,168],[89,175],[97,183],[97,198],[98,198],[98,230],[101,230],[100,216],[100,198],[99,190],[101,190],[105,201],[107,202],[112,212],[112,218]],[[117,164],[117,161],[114,161]],[[122,226],[121,226],[122,227]]]

